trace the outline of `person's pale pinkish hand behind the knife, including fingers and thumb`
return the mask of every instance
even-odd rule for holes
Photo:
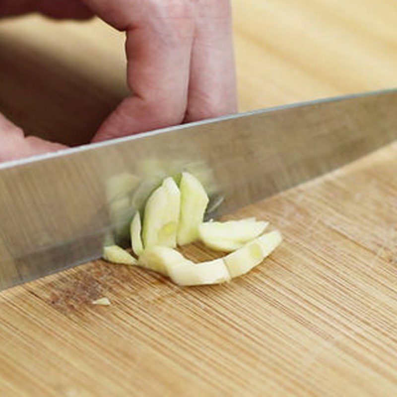
[[[126,32],[131,96],[93,141],[237,111],[229,0],[2,0],[0,17],[97,15]],[[0,114],[0,162],[66,146],[29,136]]]

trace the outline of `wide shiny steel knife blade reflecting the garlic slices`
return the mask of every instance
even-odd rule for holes
[[[397,89],[280,106],[0,164],[0,290],[97,259],[165,175],[218,216],[397,139]]]

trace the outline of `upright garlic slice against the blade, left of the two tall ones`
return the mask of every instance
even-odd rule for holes
[[[142,240],[144,248],[176,247],[181,194],[173,178],[166,178],[145,205]]]

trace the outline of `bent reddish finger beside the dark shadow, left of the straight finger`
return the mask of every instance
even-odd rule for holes
[[[105,1],[86,1],[95,3],[99,16],[106,16],[113,26],[127,32],[127,73],[132,91],[93,140],[180,124],[187,107],[194,36],[191,2],[118,0],[110,13]]]

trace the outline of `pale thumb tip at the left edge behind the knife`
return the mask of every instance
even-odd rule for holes
[[[28,136],[0,114],[0,162],[66,149],[60,143]]]

